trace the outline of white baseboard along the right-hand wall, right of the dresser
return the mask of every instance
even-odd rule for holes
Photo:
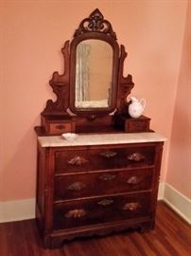
[[[171,185],[165,183],[163,200],[191,225],[191,200],[188,197],[177,191]]]

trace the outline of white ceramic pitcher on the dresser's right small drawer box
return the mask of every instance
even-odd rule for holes
[[[130,99],[130,100],[129,100]],[[137,119],[139,118],[146,107],[146,100],[141,99],[140,101],[137,100],[135,97],[129,97],[127,101],[131,101],[129,105],[129,114],[131,118]]]

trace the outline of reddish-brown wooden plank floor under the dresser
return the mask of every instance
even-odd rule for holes
[[[191,227],[160,202],[153,231],[80,239],[65,244],[61,249],[44,250],[34,220],[12,222],[0,224],[0,255],[190,256]]]

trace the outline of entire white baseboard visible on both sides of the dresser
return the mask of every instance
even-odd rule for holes
[[[175,210],[191,224],[191,200],[165,182],[160,182],[158,200]],[[0,223],[33,219],[35,217],[35,199],[0,202]]]

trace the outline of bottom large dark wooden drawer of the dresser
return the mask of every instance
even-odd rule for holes
[[[145,217],[149,214],[150,194],[118,195],[77,200],[54,207],[54,229]]]

